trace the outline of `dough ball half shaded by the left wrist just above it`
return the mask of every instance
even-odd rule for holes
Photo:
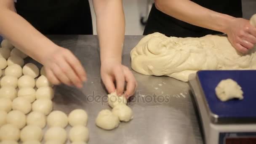
[[[39,75],[39,69],[33,63],[25,64],[23,69],[22,69],[22,72],[23,72],[23,75],[29,75],[33,78],[35,78]]]

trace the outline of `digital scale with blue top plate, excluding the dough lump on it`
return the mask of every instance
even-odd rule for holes
[[[231,78],[244,99],[220,101],[215,88]],[[199,71],[189,75],[205,144],[256,144],[256,70]]]

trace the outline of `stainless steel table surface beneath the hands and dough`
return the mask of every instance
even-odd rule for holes
[[[69,114],[80,108],[88,112],[88,144],[203,144],[189,85],[170,77],[146,76],[134,71],[138,88],[129,103],[134,113],[133,120],[120,123],[112,131],[98,128],[96,116],[101,109],[110,107],[100,77],[97,37],[54,35],[49,38],[75,53],[88,74],[88,82],[82,89],[57,86],[53,99],[55,110]],[[130,51],[141,38],[125,36],[123,64],[130,68]]]

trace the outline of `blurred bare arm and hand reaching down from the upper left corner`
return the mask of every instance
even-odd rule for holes
[[[0,34],[10,40],[16,48],[43,64],[51,83],[62,82],[81,87],[85,72],[75,56],[38,32],[15,13],[14,9],[13,0],[0,0]]]

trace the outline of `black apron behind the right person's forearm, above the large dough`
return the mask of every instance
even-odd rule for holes
[[[191,0],[198,5],[213,11],[228,14],[234,17],[242,17],[241,0]],[[197,27],[184,21],[175,19],[157,10],[155,4],[149,13],[149,18],[143,35],[160,32],[168,37],[203,37],[208,34],[220,34],[210,29]]]

